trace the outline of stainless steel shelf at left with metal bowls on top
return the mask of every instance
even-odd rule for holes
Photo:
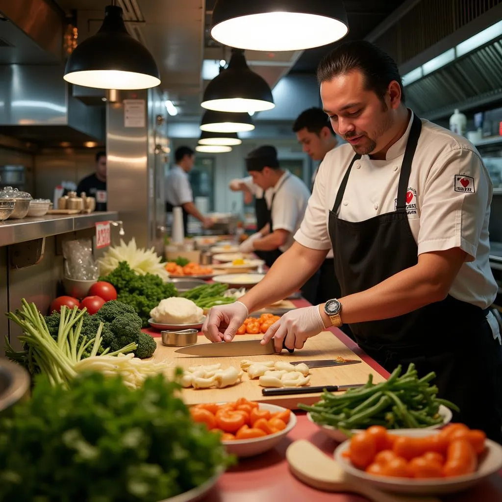
[[[39,218],[0,221],[0,246],[84,230],[92,228],[99,221],[117,218],[116,211],[100,211],[90,214],[48,214]]]

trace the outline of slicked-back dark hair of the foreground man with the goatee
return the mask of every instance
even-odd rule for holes
[[[389,84],[396,80],[401,87],[401,101],[405,102],[403,80],[396,61],[365,40],[345,42],[324,56],[317,67],[317,80],[321,84],[351,70],[359,70],[364,75],[366,89],[382,100]]]

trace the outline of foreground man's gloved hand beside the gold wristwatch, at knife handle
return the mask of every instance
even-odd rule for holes
[[[288,348],[303,348],[307,338],[318,335],[324,329],[319,305],[290,310],[267,330],[262,345],[274,338],[277,352],[282,350],[283,340],[286,340]]]

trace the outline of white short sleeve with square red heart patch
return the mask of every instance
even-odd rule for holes
[[[443,154],[424,184],[418,254],[460,247],[473,261],[492,186],[479,155],[466,147]]]

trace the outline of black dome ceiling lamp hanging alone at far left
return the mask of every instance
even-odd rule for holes
[[[66,62],[67,82],[99,89],[147,89],[160,84],[153,56],[129,35],[122,9],[109,5],[96,35],[79,44]]]

